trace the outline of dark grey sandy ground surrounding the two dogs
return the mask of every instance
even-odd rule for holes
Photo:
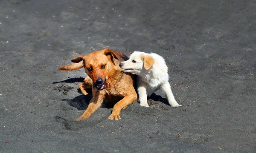
[[[1,0],[0,152],[256,152],[254,0]],[[83,69],[57,68],[111,48],[166,59],[162,92],[109,120],[76,122]]]

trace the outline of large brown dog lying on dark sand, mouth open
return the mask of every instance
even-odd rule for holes
[[[58,70],[72,71],[84,67],[85,73],[88,75],[79,88],[85,95],[88,94],[85,89],[91,88],[93,98],[84,114],[76,120],[88,119],[102,105],[103,101],[116,102],[108,118],[118,120],[121,119],[121,110],[137,100],[134,88],[135,76],[123,73],[119,67],[119,63],[127,59],[125,54],[106,48],[76,57],[71,60],[73,63],[58,68]]]

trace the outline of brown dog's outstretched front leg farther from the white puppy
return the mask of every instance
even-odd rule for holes
[[[93,98],[90,100],[88,108],[84,111],[84,114],[76,119],[77,121],[88,119],[91,114],[102,105],[102,102],[105,99],[106,94],[108,93],[108,91],[106,90],[98,91],[95,88],[93,88],[92,90]]]

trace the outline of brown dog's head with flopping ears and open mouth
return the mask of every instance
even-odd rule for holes
[[[102,90],[105,88],[106,80],[114,74],[115,62],[119,59],[111,49],[95,51],[88,55],[76,57],[72,62],[79,63],[83,61],[85,73],[93,80],[93,85]]]

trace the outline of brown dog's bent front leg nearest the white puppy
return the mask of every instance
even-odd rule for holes
[[[137,95],[125,96],[122,100],[120,100],[114,105],[113,111],[111,115],[108,117],[108,119],[115,119],[115,120],[121,119],[120,112],[122,111],[122,109],[131,105],[136,99],[137,99]]]

